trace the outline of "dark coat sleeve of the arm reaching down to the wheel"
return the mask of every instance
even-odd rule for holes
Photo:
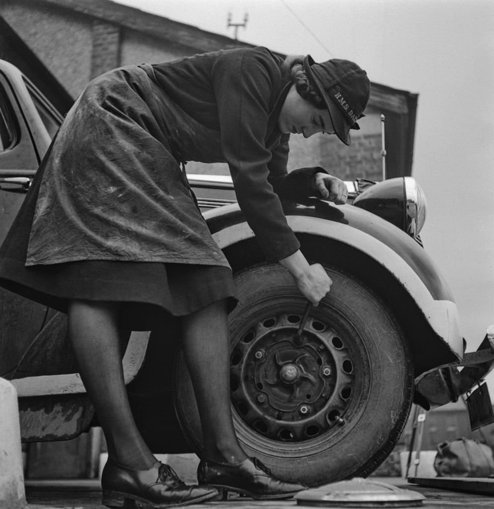
[[[280,79],[274,56],[263,48],[224,56],[213,70],[222,150],[239,206],[266,257],[276,261],[300,247],[268,181],[273,155],[265,138],[272,92]]]

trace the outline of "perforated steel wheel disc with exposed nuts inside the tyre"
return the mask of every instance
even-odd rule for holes
[[[336,330],[300,314],[259,320],[231,355],[231,401],[247,425],[269,438],[297,442],[344,425],[354,392],[354,361]]]

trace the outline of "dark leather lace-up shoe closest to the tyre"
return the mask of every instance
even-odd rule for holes
[[[277,479],[271,470],[257,458],[248,458],[240,465],[227,465],[202,460],[197,468],[199,483],[214,486],[223,491],[223,500],[228,491],[241,493],[257,500],[290,498],[307,487],[298,483],[286,483]]]

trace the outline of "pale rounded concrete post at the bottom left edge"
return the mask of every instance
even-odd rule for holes
[[[19,406],[15,387],[0,378],[0,509],[25,509]]]

